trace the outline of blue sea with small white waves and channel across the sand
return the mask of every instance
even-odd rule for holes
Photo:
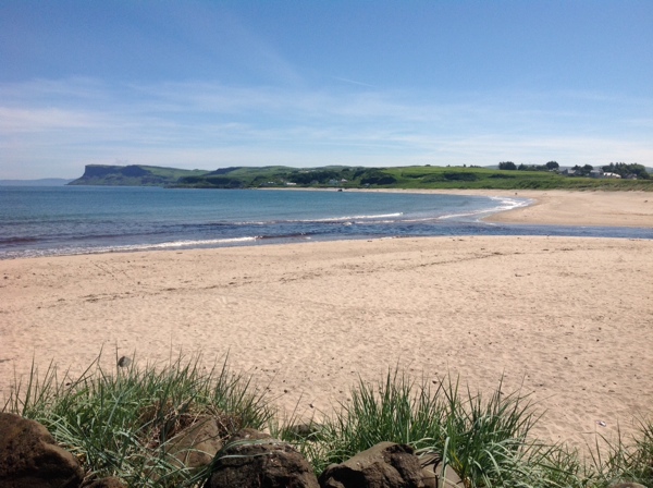
[[[0,186],[0,259],[446,235],[653,239],[651,229],[482,220],[518,197],[125,186]]]

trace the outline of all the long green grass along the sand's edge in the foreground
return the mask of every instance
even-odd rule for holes
[[[307,431],[297,428],[296,418],[280,423],[264,389],[231,371],[226,361],[207,370],[200,359],[106,371],[98,358],[72,383],[54,366],[44,375],[33,370],[3,411],[44,424],[83,462],[89,478],[118,476],[131,487],[204,486],[210,467],[188,469],[169,448],[182,428],[206,415],[219,419],[224,438],[242,427],[269,430],[293,443],[318,474],[378,442],[394,441],[420,455],[442,454],[468,488],[604,488],[619,480],[653,486],[652,423],[642,423],[631,442],[603,446],[597,439],[592,457],[581,461],[565,446],[530,437],[539,415],[518,391],[502,394],[500,383],[481,398],[454,378],[433,386],[389,370],[379,383],[355,385],[352,402],[324,413]]]

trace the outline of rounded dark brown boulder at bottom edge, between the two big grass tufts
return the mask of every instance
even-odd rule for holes
[[[211,471],[205,488],[319,488],[310,464],[291,444],[252,429],[233,436]]]

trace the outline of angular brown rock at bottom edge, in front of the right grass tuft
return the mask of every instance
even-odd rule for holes
[[[381,442],[320,476],[322,488],[424,488],[422,466],[409,446]]]

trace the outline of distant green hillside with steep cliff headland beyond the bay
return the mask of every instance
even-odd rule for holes
[[[581,175],[578,175],[581,174]],[[337,188],[496,188],[496,190],[645,190],[649,173],[637,180],[589,178],[587,172],[564,175],[546,170],[498,170],[478,167],[322,168],[231,167],[215,171],[148,166],[86,167],[75,185],[158,185],[188,188],[337,187]]]

